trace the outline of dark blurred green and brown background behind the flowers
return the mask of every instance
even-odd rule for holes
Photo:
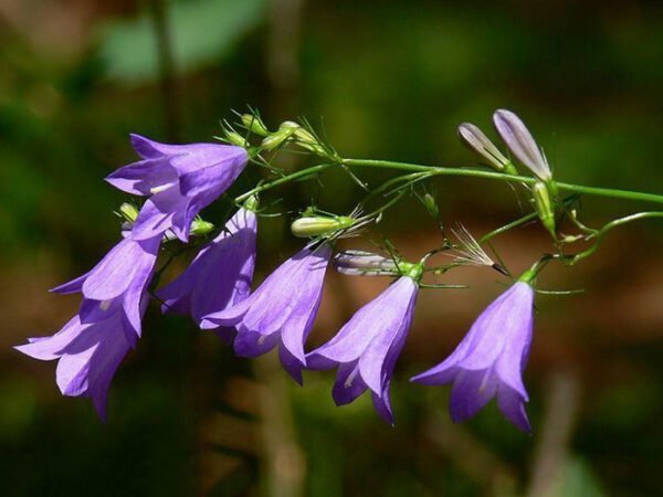
[[[486,271],[448,278],[469,290],[422,292],[392,383],[396,427],[368,395],[336,409],[332,372],[307,374],[301,389],[272,355],[238,359],[157,306],[113,381],[105,425],[88,401],[60,395],[55,363],[11,346],[60,329],[78,299],[46,289],[116,243],[112,211],[127,195],[103,178],[135,160],[130,131],[211,140],[219,119],[252,105],[271,127],[297,116],[324,123],[344,157],[456,166],[474,161],[456,125],[490,130],[492,112],[506,107],[564,181],[660,192],[662,89],[657,0],[0,0],[0,495],[661,495],[663,230],[654,221],[543,276],[544,288],[587,292],[538,298],[525,373],[532,436],[493,404],[454,425],[449,388],[408,382],[503,290]],[[372,184],[392,176],[358,175]],[[283,198],[271,211],[285,214],[261,220],[256,281],[298,246],[288,212],[312,199],[347,212],[360,199],[343,173],[323,181],[264,198]],[[523,212],[506,186],[432,186],[443,219],[476,234]],[[583,214],[600,225],[643,208],[587,198]],[[222,212],[204,216],[219,222]],[[440,243],[414,200],[380,233],[411,258]],[[536,225],[496,246],[514,272],[548,250]],[[312,345],[387,285],[330,271]]]

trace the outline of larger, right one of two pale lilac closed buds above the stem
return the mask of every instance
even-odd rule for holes
[[[550,181],[552,179],[546,157],[518,116],[511,110],[499,109],[493,114],[493,123],[497,134],[520,162],[540,180]]]

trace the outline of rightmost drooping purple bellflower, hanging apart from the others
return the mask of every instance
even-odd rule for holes
[[[423,384],[453,382],[454,422],[476,414],[493,396],[518,429],[530,432],[523,370],[532,343],[534,290],[518,282],[478,316],[456,349],[440,364],[412,378]]]

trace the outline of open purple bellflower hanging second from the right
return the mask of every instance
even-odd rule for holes
[[[418,289],[413,278],[401,276],[357,310],[332,340],[306,355],[308,369],[338,367],[332,392],[337,405],[352,402],[369,389],[376,411],[393,424],[389,385],[408,338]]]

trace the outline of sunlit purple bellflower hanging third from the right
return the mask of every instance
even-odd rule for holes
[[[285,370],[302,383],[306,366],[304,342],[323,297],[323,282],[332,248],[306,246],[278,266],[246,299],[210,314],[201,328],[234,326],[234,350],[255,357],[278,345]]]

